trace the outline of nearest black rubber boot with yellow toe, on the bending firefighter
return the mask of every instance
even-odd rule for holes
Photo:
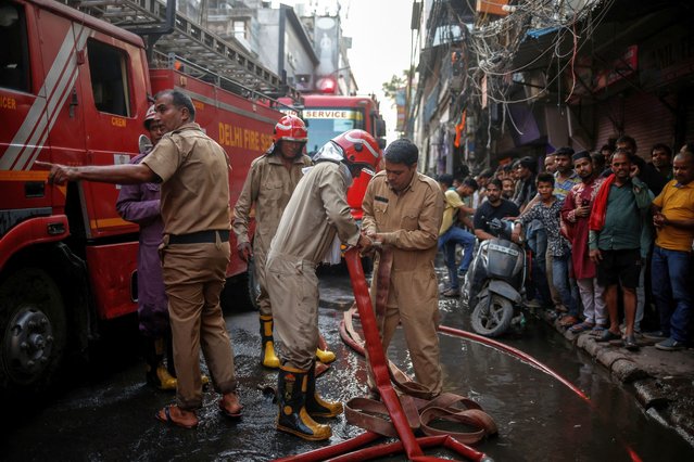
[[[290,433],[311,441],[330,438],[330,426],[323,425],[311,419],[306,412],[306,389],[308,371],[282,365],[277,378],[277,429]]]

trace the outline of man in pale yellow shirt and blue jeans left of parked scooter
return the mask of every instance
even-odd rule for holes
[[[475,248],[475,236],[456,226],[458,218],[464,218],[465,216],[465,204],[460,201],[458,192],[452,187],[453,177],[451,175],[441,175],[438,181],[445,200],[443,220],[439,230],[439,249],[443,249],[445,266],[449,269],[449,286],[442,295],[444,297],[457,297],[460,295],[458,274],[460,277],[465,275],[470,266]],[[471,181],[474,182],[475,180]],[[462,190],[466,190],[467,188],[471,187],[466,183],[459,187]],[[463,246],[463,259],[457,271],[455,264],[456,244]]]

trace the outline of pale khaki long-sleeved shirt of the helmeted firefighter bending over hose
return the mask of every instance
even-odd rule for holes
[[[339,165],[316,164],[299,181],[287,204],[270,244],[273,255],[323,261],[335,235],[349,245],[356,245],[359,229],[346,203],[346,184]]]

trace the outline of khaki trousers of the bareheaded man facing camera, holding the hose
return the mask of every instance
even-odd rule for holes
[[[377,273],[376,268],[374,274]],[[371,300],[375,300],[375,291],[376,278],[371,284]],[[376,313],[376,323],[381,334],[386,358],[395,330],[399,324],[402,325],[416,381],[433,396],[441,394],[442,377],[437,332],[439,297],[433,264],[413,270],[393,270],[386,312]],[[374,388],[370,367],[367,370],[369,387]]]

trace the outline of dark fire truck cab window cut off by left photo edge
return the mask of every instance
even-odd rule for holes
[[[18,4],[0,5],[0,87],[30,91],[26,17]]]

